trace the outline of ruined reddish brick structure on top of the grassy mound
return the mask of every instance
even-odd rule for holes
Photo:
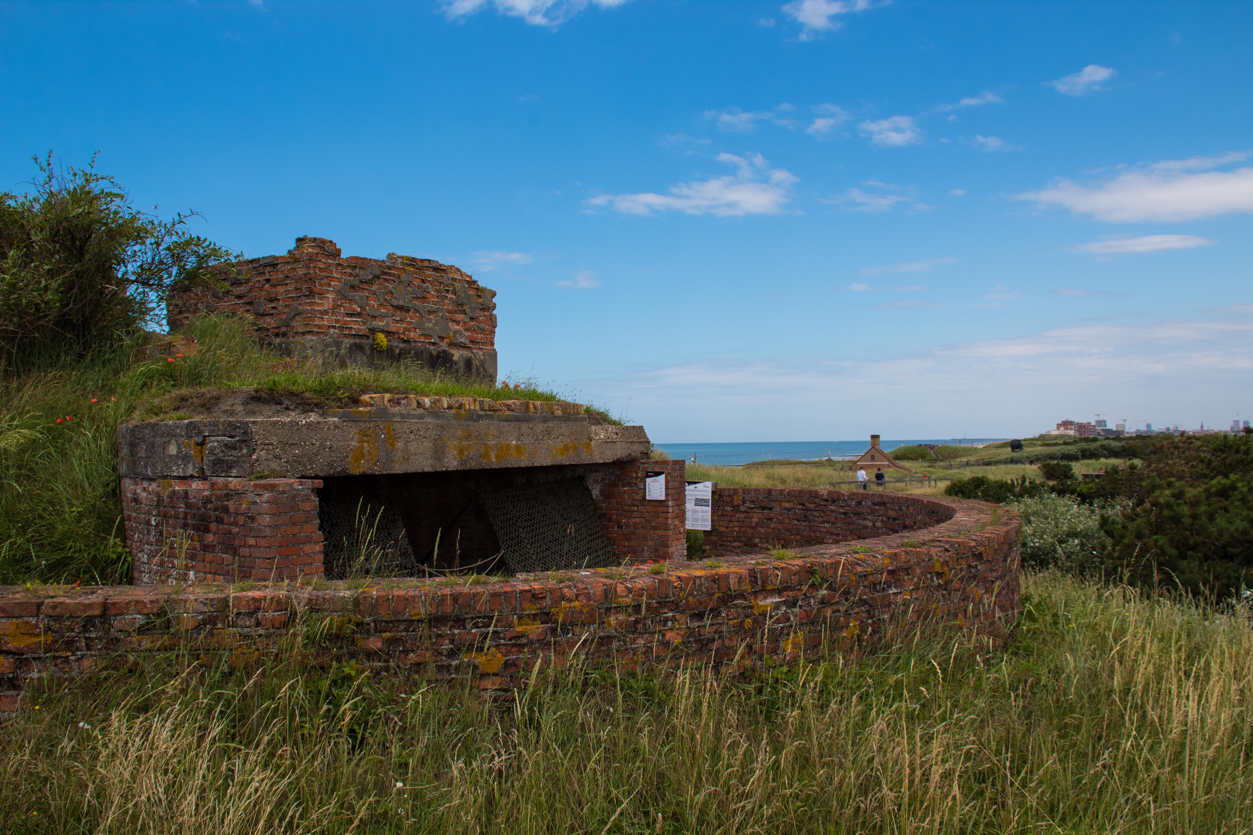
[[[390,356],[446,354],[454,371],[496,374],[495,290],[456,267],[390,253],[342,258],[333,240],[297,238],[286,255],[252,258],[218,270],[227,288],[184,287],[168,304],[170,329],[200,313],[253,319],[262,338],[288,353],[338,351],[370,357],[373,334]],[[435,353],[431,353],[435,351]]]

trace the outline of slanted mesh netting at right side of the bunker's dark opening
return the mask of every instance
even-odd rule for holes
[[[581,478],[485,489],[479,499],[511,571],[604,568],[619,562]]]

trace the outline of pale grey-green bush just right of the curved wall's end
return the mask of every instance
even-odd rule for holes
[[[1100,508],[1053,493],[1019,498],[1007,507],[1021,518],[1022,562],[1036,568],[1100,572],[1109,546]]]

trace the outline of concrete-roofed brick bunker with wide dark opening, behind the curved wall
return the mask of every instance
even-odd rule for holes
[[[685,550],[682,462],[576,403],[367,396],[120,429],[137,583],[519,573]],[[670,472],[645,498],[648,472]]]

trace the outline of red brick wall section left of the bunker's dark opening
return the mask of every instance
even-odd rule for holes
[[[321,481],[123,478],[135,585],[322,575]]]

